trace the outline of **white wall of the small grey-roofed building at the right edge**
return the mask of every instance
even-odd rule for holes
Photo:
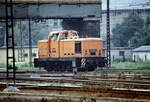
[[[150,61],[150,52],[133,52],[133,61]]]

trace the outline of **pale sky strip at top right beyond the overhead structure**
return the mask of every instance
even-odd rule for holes
[[[109,0],[110,9],[145,9],[150,8],[150,0]],[[102,0],[102,9],[106,10],[107,0]],[[147,5],[145,5],[147,4]],[[136,6],[135,6],[136,5]]]

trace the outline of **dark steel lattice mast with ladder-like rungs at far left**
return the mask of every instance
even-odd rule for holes
[[[13,4],[12,0],[5,0],[6,14],[6,60],[7,60],[7,87],[9,81],[13,80],[16,85],[16,67],[15,67],[15,51],[14,51],[14,24],[13,24]],[[10,70],[13,70],[13,76],[10,76]]]

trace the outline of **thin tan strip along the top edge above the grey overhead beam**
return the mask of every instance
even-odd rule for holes
[[[101,3],[101,0],[12,0],[14,3]],[[5,2],[5,0],[0,0]]]

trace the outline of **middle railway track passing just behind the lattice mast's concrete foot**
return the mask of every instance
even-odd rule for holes
[[[1,80],[6,80],[5,77],[0,77]],[[101,79],[101,78],[79,78],[72,76],[51,76],[51,77],[18,77],[16,81],[26,81],[26,82],[47,82],[47,83],[81,83],[83,85],[100,85],[100,84],[120,84],[120,85],[134,85],[134,86],[143,86],[149,87],[150,81],[143,80],[123,80],[123,79]]]

